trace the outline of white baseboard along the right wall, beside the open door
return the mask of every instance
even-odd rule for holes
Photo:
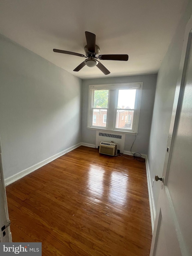
[[[153,233],[156,210],[155,210],[152,182],[151,182],[151,176],[150,176],[149,163],[148,163],[147,156],[145,159],[145,163],[146,163],[146,172],[147,172],[147,185],[148,185],[148,192],[149,192],[149,206],[150,206],[150,212],[151,212],[151,225],[152,225],[152,233]]]

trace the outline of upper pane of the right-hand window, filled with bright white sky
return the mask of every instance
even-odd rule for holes
[[[134,109],[136,89],[119,90],[117,108]]]

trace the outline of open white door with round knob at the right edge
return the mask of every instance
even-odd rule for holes
[[[150,256],[192,255],[192,17],[186,26],[180,74]],[[181,72],[182,71],[182,72]]]

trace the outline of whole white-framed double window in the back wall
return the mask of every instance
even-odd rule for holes
[[[90,85],[88,128],[137,132],[142,87],[143,83]]]

